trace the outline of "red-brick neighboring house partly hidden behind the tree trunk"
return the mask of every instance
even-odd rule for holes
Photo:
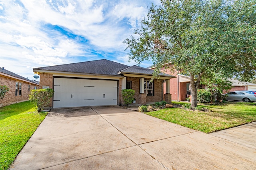
[[[168,69],[172,68],[172,66],[172,63],[164,64],[161,68],[161,72],[175,76],[175,78],[170,79],[170,94],[172,95],[172,100],[184,101],[189,95],[191,95],[190,76],[179,74],[178,70]],[[151,66],[148,68],[154,70],[156,67]],[[199,88],[205,88],[205,86],[200,85]]]

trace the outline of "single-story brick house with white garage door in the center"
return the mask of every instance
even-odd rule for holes
[[[116,106],[122,104],[122,89],[135,90],[138,104],[165,100],[163,82],[169,89],[169,74],[160,74],[152,83],[153,70],[140,66],[127,66],[106,59],[82,63],[34,68],[40,75],[40,88],[52,88],[54,97],[49,107]],[[169,93],[167,91],[167,93]]]

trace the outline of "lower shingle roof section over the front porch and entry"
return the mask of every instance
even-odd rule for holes
[[[154,70],[150,70],[148,68],[143,68],[140,66],[130,66],[128,68],[125,68],[124,70],[120,71],[121,73],[134,73],[134,74],[148,74],[148,75],[152,75]],[[170,76],[170,74],[165,74],[165,73],[160,73],[160,76]],[[174,76],[173,76],[174,77]]]

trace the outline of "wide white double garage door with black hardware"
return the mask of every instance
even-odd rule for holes
[[[117,81],[54,78],[53,107],[117,105]]]

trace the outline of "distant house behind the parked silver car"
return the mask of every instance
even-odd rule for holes
[[[249,83],[249,82],[239,82],[238,80],[232,79],[232,86],[231,89],[227,92],[237,91],[237,90],[249,90],[256,92],[256,84]],[[226,93],[226,92],[223,92]]]

